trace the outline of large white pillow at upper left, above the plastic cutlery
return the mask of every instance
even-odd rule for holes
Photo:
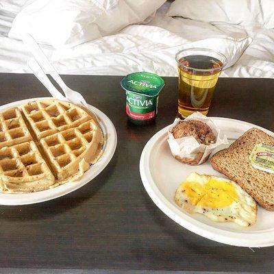
[[[10,29],[10,38],[24,33],[55,48],[74,47],[142,23],[165,0],[29,0]],[[144,8],[145,7],[145,8]]]

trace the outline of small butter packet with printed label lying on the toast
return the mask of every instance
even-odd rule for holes
[[[249,156],[249,160],[256,169],[274,173],[274,146],[263,143],[256,145]]]

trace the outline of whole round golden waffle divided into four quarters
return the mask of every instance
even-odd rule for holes
[[[82,177],[97,162],[103,134],[94,114],[55,99],[21,110],[0,113],[1,192],[52,188]]]

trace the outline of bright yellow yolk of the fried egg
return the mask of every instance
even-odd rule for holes
[[[238,201],[235,187],[221,180],[210,179],[206,184],[184,182],[182,187],[193,206],[224,208]]]

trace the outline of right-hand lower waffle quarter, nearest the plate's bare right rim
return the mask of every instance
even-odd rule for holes
[[[79,166],[83,173],[89,164],[97,162],[101,155],[103,136],[93,120],[79,127],[66,129],[41,139],[41,147],[47,155],[59,182],[77,174]]]

